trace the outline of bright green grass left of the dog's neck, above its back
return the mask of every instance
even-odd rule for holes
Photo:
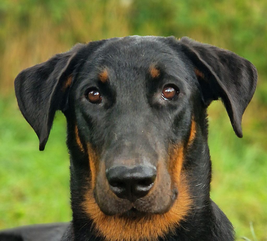
[[[23,120],[13,98],[0,100],[0,228],[69,221],[69,158],[65,120],[60,116],[48,148]]]

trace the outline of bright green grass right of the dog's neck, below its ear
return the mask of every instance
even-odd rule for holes
[[[258,240],[267,230],[267,152],[249,128],[244,137],[234,135],[225,109],[219,102],[209,108],[209,146],[213,163],[211,198],[231,220],[237,238],[253,239],[250,222]],[[246,115],[245,115],[246,117]],[[239,239],[237,239],[239,240]]]

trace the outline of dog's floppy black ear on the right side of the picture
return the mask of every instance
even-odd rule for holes
[[[236,135],[242,137],[242,115],[257,84],[255,66],[231,51],[187,37],[182,37],[180,43],[195,66],[206,106],[221,98]]]

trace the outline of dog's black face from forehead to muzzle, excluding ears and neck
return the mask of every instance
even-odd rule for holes
[[[100,47],[77,74],[70,102],[79,135],[97,152],[92,186],[107,215],[165,213],[177,197],[168,150],[188,139],[193,103],[203,105],[193,65],[186,69],[184,58],[161,42],[117,40]]]

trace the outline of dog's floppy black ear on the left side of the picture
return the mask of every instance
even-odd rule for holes
[[[15,79],[19,109],[36,132],[40,151],[45,148],[56,110],[63,110],[66,105],[66,89],[71,84],[78,53],[85,46],[78,44],[69,52],[27,68]]]

